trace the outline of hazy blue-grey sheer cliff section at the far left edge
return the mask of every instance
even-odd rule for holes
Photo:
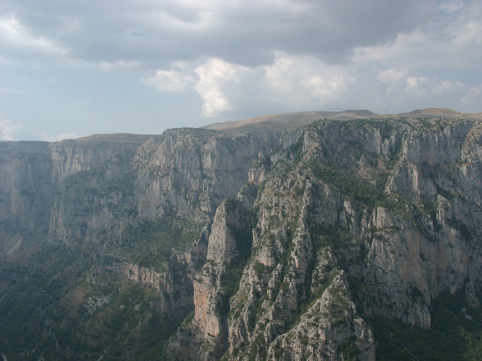
[[[121,178],[139,145],[76,140],[0,142],[0,232],[7,240],[25,240],[17,247],[20,250],[54,239],[84,240],[88,230],[104,231],[109,222],[117,222],[122,229],[126,218],[113,221],[117,215],[106,211],[107,204],[99,204],[95,187],[102,186],[101,192],[108,193],[111,203],[125,198],[124,194],[113,195],[106,184],[111,187]],[[8,243],[1,252],[10,252]]]

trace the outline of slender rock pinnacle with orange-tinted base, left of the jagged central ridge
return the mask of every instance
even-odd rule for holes
[[[172,357],[179,352],[185,356],[186,348],[198,359],[218,359],[225,352],[229,298],[249,257],[253,221],[254,214],[239,201],[224,200],[216,209],[206,262],[193,280],[194,318],[171,340]],[[189,343],[182,342],[186,334],[191,335]]]

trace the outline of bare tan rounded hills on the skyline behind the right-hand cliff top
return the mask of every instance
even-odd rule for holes
[[[339,112],[334,111],[312,111],[312,112],[297,112],[286,114],[264,115],[255,118],[249,118],[237,121],[226,121],[221,123],[214,123],[205,125],[202,128],[215,129],[222,131],[237,131],[248,129],[284,129],[296,128],[312,123],[318,119],[334,119],[334,120],[350,120],[350,119],[368,119],[376,118],[383,119],[388,117],[444,117],[444,118],[466,118],[482,120],[482,113],[460,113],[448,108],[427,108],[417,109],[409,113],[401,114],[377,114],[370,110],[343,110]]]

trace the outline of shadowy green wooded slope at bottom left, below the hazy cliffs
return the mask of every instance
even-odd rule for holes
[[[0,288],[0,350],[8,359],[162,359],[191,309],[169,314],[151,307],[160,294],[125,278],[86,282],[92,265],[78,249],[62,246],[2,265],[12,278],[9,289]]]

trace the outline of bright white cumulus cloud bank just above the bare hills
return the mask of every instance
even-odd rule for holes
[[[368,108],[400,113],[424,107],[478,111],[482,89],[458,80],[421,75],[410,67],[386,70],[351,63],[333,65],[315,57],[278,53],[271,65],[247,67],[211,58],[193,69],[144,80],[164,91],[195,90],[204,117],[245,118],[304,110]]]

